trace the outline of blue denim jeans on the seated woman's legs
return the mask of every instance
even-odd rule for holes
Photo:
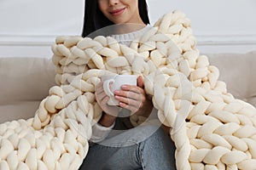
[[[90,150],[79,170],[172,170],[175,146],[160,126],[114,132]]]

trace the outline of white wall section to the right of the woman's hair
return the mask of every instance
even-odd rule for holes
[[[255,0],[148,0],[152,21],[172,10],[191,20],[202,53],[256,50]],[[168,3],[167,3],[168,2]]]

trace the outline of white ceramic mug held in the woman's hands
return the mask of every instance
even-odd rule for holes
[[[102,77],[102,81],[104,91],[109,96],[108,105],[119,105],[113,92],[121,89],[122,85],[137,85],[137,75],[106,75]]]

